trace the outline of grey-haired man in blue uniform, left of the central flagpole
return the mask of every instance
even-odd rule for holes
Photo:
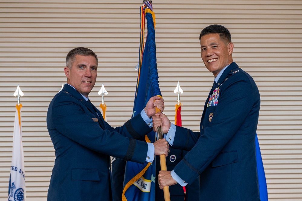
[[[155,107],[164,110],[160,97],[152,97],[140,115],[112,128],[88,95],[96,83],[98,59],[84,47],[67,54],[67,84],[47,112],[47,129],[56,159],[50,178],[48,201],[112,200],[110,155],[138,163],[168,155],[165,139],[155,143],[135,140],[152,130]],[[134,138],[134,139],[132,139]]]

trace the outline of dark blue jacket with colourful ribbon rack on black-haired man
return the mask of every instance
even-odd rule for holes
[[[200,132],[176,126],[172,147],[189,152],[174,171],[188,184],[200,176],[200,200],[260,201],[255,155],[259,110],[254,80],[233,62],[209,93]]]

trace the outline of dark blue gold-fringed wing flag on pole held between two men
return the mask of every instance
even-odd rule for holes
[[[148,33],[144,47],[145,18]],[[158,84],[156,49],[155,49],[155,15],[150,6],[141,7],[141,43],[138,64],[138,78],[133,106],[133,117],[138,115],[153,96],[161,96]],[[155,141],[155,132],[145,136],[147,142]],[[152,163],[138,164],[126,162],[123,185],[123,201],[152,201],[155,200],[155,160]]]

